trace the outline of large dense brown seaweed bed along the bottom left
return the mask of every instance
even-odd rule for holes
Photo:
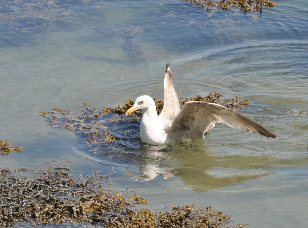
[[[24,172],[25,174],[22,174]],[[68,166],[47,162],[47,169],[0,169],[0,226],[75,224],[104,227],[225,227],[229,215],[210,206],[173,206],[171,212],[154,213],[149,199],[136,194],[124,197],[110,186],[111,179],[98,173],[75,179]],[[125,191],[127,192],[127,191]],[[165,206],[165,205],[164,205]],[[232,227],[242,227],[240,224]]]

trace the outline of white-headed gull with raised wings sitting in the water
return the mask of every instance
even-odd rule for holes
[[[128,116],[136,110],[142,110],[140,138],[144,143],[161,145],[189,138],[204,139],[205,133],[215,127],[215,123],[225,123],[231,128],[243,129],[268,138],[277,137],[257,121],[220,104],[188,101],[180,109],[172,84],[170,63],[166,64],[164,95],[164,107],[160,115],[157,115],[155,102],[148,95],[138,97],[126,112]]]

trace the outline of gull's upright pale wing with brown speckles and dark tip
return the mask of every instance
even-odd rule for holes
[[[170,63],[166,63],[166,74],[164,79],[164,107],[158,116],[164,125],[169,124],[180,112],[180,103],[172,84]]]

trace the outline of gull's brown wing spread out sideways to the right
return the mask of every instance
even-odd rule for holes
[[[215,126],[215,123],[225,123],[231,128],[243,129],[269,138],[277,137],[257,121],[222,105],[205,101],[187,102],[173,121],[168,137],[202,138],[207,130]]]

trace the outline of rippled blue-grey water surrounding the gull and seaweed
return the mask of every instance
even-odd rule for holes
[[[114,187],[137,190],[153,210],[211,205],[234,224],[306,225],[307,1],[279,1],[261,15],[180,0],[28,2],[0,3],[0,140],[24,148],[0,168],[71,161],[76,175],[120,177]],[[178,96],[241,96],[250,105],[239,112],[278,138],[218,124],[205,140],[155,147],[128,116],[108,124],[115,143],[92,148],[39,115],[162,98],[167,62]]]

